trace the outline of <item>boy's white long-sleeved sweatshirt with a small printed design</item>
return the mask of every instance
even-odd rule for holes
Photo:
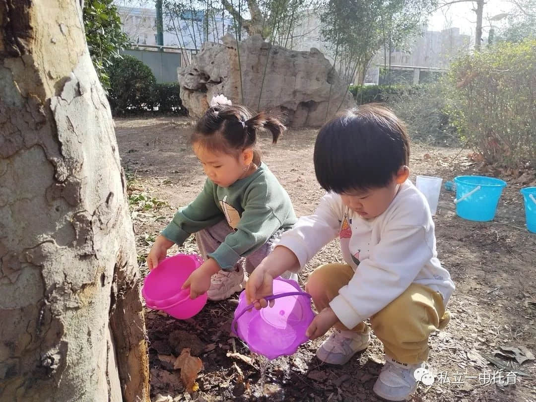
[[[455,286],[437,259],[426,198],[411,181],[401,185],[384,213],[370,220],[348,209],[339,195],[326,193],[315,213],[300,218],[278,245],[291,249],[303,268],[337,236],[355,273],[330,307],[347,328],[376,314],[412,283],[440,292],[446,306]]]

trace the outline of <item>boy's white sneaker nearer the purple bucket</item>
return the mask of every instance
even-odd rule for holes
[[[346,364],[352,356],[370,345],[370,333],[335,330],[316,351],[327,364]]]

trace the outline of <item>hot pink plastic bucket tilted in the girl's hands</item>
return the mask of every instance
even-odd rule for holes
[[[143,282],[142,295],[147,307],[178,319],[195,316],[206,304],[206,293],[192,300],[190,289],[181,287],[202,263],[195,254],[177,254],[163,260]]]

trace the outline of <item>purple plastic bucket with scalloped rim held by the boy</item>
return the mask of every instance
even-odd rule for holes
[[[245,292],[242,292],[231,329],[251,352],[270,360],[291,355],[309,340],[305,332],[315,317],[311,296],[303,292],[296,281],[276,278],[273,295],[266,300],[274,300],[273,307],[255,310],[252,304],[247,305]]]

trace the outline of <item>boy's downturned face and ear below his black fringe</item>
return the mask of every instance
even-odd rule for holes
[[[409,175],[410,170],[404,166],[385,187],[348,191],[340,196],[344,205],[361,215],[361,218],[373,219],[388,209],[397,195],[399,185],[404,183]]]

